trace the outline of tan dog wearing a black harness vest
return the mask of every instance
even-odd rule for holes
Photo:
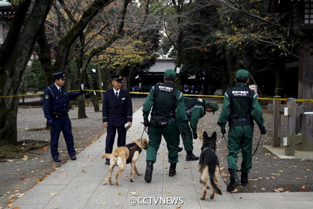
[[[104,158],[110,158],[110,169],[109,169],[109,182],[110,185],[112,185],[112,172],[115,167],[115,165],[119,166],[119,169],[116,173],[115,184],[118,185],[119,180],[118,176],[121,172],[125,170],[125,166],[128,163],[131,163],[131,182],[134,182],[134,172],[138,176],[141,175],[141,173],[138,172],[136,167],[136,161],[139,158],[139,155],[142,151],[142,149],[146,150],[148,148],[148,141],[147,139],[137,139],[134,140],[132,143],[126,144],[122,147],[117,147],[113,150],[112,154],[105,153],[102,155],[102,159]]]

